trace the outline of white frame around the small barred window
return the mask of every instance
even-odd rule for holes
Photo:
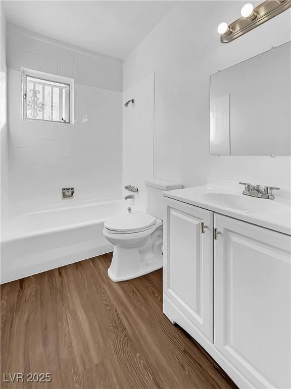
[[[74,80],[61,75],[44,73],[43,71],[32,70],[27,68],[21,68],[22,74],[22,120],[32,120],[39,122],[49,123],[62,123],[62,124],[74,124]],[[44,119],[32,119],[27,118],[27,91],[26,91],[26,78],[27,76],[35,77],[37,79],[51,81],[55,83],[62,83],[69,86],[69,122],[62,122],[56,120],[44,120]]]

